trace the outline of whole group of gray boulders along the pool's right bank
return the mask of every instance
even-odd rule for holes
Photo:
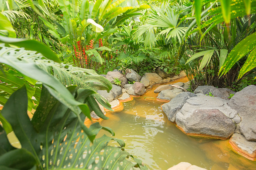
[[[231,99],[230,94],[234,94]],[[229,142],[237,152],[256,159],[256,86],[237,93],[199,86],[194,93],[180,92],[161,107],[168,120],[186,134],[219,139],[231,136]]]

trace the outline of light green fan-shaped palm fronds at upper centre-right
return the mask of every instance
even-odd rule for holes
[[[141,37],[145,35],[145,47],[154,47],[156,39],[164,36],[164,40],[169,42],[170,39],[175,41],[178,39],[181,44],[183,41],[183,35],[187,30],[187,27],[183,27],[179,21],[182,9],[176,9],[174,6],[169,6],[169,3],[162,3],[160,7],[151,7],[146,14],[145,24],[138,27],[135,35]],[[162,30],[156,32],[155,28]],[[157,35],[155,35],[155,32]]]

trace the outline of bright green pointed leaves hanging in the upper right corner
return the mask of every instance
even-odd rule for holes
[[[216,2],[220,3],[219,5],[215,5]],[[235,19],[237,17],[243,17],[245,15],[248,16],[248,25],[253,24],[250,23],[250,19],[253,16],[250,16],[250,14],[255,14],[256,12],[256,1],[195,1],[194,2],[195,7],[195,20],[191,23],[189,26],[189,29],[187,32],[189,32],[193,26],[197,23],[198,28],[191,31],[188,35],[191,35],[193,33],[196,33],[197,31],[201,32],[203,28],[206,28],[205,31],[202,33],[200,42],[203,40],[204,36],[211,31],[216,24],[225,22],[227,26],[227,32],[229,33],[229,26],[232,19]],[[202,7],[203,12],[202,12]],[[186,15],[183,20],[185,20],[188,17],[191,17],[193,14]],[[210,16],[211,18],[209,20],[206,20],[206,18]],[[183,21],[182,20],[182,21]],[[202,23],[201,23],[202,22]],[[255,24],[253,24],[255,25]],[[245,25],[245,27],[247,27]],[[255,31],[255,28],[251,30],[253,33]],[[234,35],[235,36],[235,35]],[[232,49],[232,51],[227,56],[225,62],[223,63],[222,67],[220,67],[219,75],[225,75],[228,73],[228,71],[234,66],[238,60],[243,58],[244,56],[248,56],[246,62],[243,64],[243,67],[239,73],[238,78],[241,78],[242,75],[244,75],[246,72],[252,70],[256,64],[255,64],[255,34],[252,34],[242,40],[240,43],[236,45]],[[244,50],[241,50],[244,49]]]

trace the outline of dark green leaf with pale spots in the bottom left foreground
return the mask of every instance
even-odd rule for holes
[[[75,92],[73,88],[69,90]],[[81,132],[78,117],[60,102],[44,112],[46,115],[44,123],[40,127],[37,126],[38,131],[35,130],[34,124],[26,113],[24,98],[26,99],[25,88],[16,91],[4,106],[3,115],[13,126],[22,148],[30,151],[35,157],[38,169],[95,169],[96,167],[98,169],[130,169],[134,166],[146,169],[141,165],[141,161],[133,164],[127,159],[130,154],[124,151],[125,143],[120,139],[104,135],[91,144],[89,137]],[[47,107],[43,102],[40,105]],[[34,116],[38,113],[35,112]],[[80,118],[84,120],[85,117],[81,114]],[[99,123],[94,123],[90,127],[95,134],[100,129],[110,130],[100,126]],[[108,146],[110,140],[116,141],[120,146]]]

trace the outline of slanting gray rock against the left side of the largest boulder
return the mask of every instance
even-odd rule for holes
[[[186,101],[190,97],[197,96],[194,93],[191,92],[182,92],[178,94],[175,98],[170,100],[168,103],[165,103],[162,105],[162,110],[166,114],[167,118],[171,122],[176,121],[176,113],[180,111],[182,106],[186,103]]]

